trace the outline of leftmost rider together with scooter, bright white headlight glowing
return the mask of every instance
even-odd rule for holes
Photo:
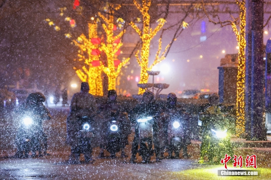
[[[47,153],[47,136],[43,132],[43,120],[50,120],[51,115],[48,109],[43,105],[45,96],[42,93],[30,93],[25,103],[17,111],[20,127],[16,134],[15,143],[17,152],[15,157],[28,157],[29,151],[32,151],[32,157],[50,155]],[[41,144],[44,152],[42,153]],[[23,154],[24,153],[24,154]]]

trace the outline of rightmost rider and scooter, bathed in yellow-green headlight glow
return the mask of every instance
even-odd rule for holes
[[[225,154],[233,157],[230,136],[234,132],[235,119],[228,114],[228,108],[219,104],[217,95],[213,94],[208,100],[209,106],[200,113],[198,120],[202,131],[198,163],[204,163],[205,155],[212,163],[219,163]]]

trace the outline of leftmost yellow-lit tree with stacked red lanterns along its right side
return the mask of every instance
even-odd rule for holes
[[[102,66],[100,62],[100,53],[98,50],[97,27],[95,24],[88,24],[89,37],[81,34],[76,40],[73,40],[74,44],[80,48],[78,53],[78,61],[84,62],[84,66],[81,69],[76,70],[76,74],[83,82],[88,82],[89,93],[93,95],[103,96],[103,84],[102,84]],[[87,54],[87,57],[85,56]]]

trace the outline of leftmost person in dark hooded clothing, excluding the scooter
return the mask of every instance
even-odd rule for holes
[[[26,117],[30,116],[33,119],[33,126],[31,126],[32,135],[31,136],[31,151],[32,156],[36,156],[36,151],[39,152],[39,156],[50,155],[47,153],[47,135],[43,132],[42,123],[44,120],[50,120],[51,115],[49,110],[43,105],[45,101],[45,96],[42,93],[30,93],[27,97],[26,102],[24,102],[20,108],[17,110],[18,117]],[[16,135],[15,143],[17,145],[17,152],[15,154],[16,157],[22,158],[23,156],[27,157],[28,152],[23,148],[24,134],[25,130],[23,125],[20,126],[19,132]],[[43,144],[43,154],[41,149],[41,144]],[[25,155],[23,155],[23,151],[25,151]]]

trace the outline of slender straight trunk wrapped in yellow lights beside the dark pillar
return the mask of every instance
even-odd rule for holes
[[[246,26],[246,8],[244,1],[237,1],[239,6],[239,28],[237,30],[236,24],[232,23],[233,31],[236,34],[237,42],[238,42],[238,73],[237,73],[237,100],[236,100],[236,134],[240,136],[245,132],[245,102],[244,102],[244,87],[245,87],[245,26]]]

